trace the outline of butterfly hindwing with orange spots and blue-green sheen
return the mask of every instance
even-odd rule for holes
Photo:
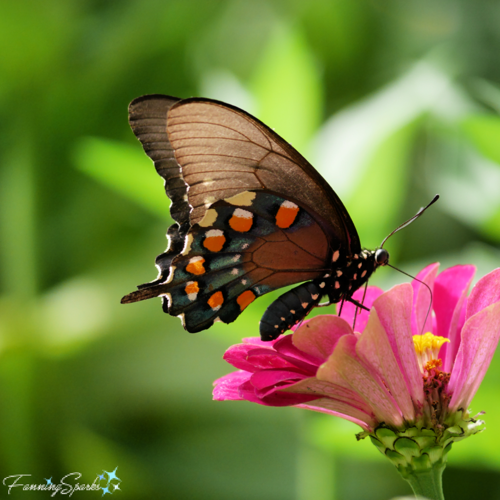
[[[259,295],[319,277],[330,254],[306,210],[272,193],[245,191],[215,202],[191,227],[163,285],[164,307],[181,315],[188,331],[217,318],[231,322]]]

